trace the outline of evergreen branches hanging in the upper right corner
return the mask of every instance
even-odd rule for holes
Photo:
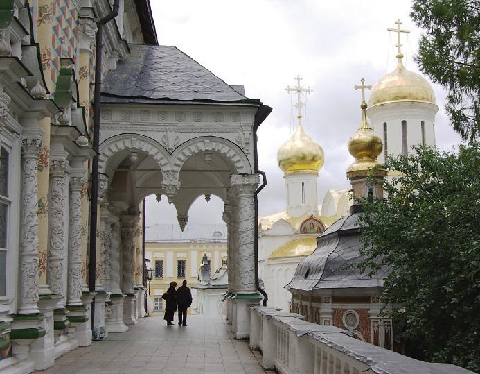
[[[411,17],[423,28],[416,62],[447,89],[454,129],[464,139],[480,131],[480,0],[414,0]]]

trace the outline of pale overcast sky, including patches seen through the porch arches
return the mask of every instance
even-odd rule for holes
[[[296,126],[290,94],[300,75],[304,87],[305,131],[325,152],[319,171],[319,203],[328,189],[349,187],[345,178],[353,157],[347,143],[360,124],[360,79],[374,85],[396,66],[397,34],[402,28],[404,65],[418,71],[412,56],[421,31],[409,17],[407,0],[150,0],[159,44],[173,45],[197,60],[229,85],[245,86],[250,99],[273,108],[258,130],[260,170],[267,187],[258,195],[259,214],[285,210],[285,181],[276,153]],[[460,142],[444,114],[445,93],[433,85],[440,111],[436,117],[436,144],[450,150]],[[366,97],[368,101],[368,91]],[[296,99],[294,99],[296,102]],[[294,109],[296,110],[296,109]],[[176,223],[173,206],[148,198],[146,226]],[[223,203],[200,199],[189,212],[189,223],[222,223]]]

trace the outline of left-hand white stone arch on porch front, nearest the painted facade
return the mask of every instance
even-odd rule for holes
[[[125,150],[138,150],[148,153],[159,164],[162,173],[170,169],[169,154],[166,149],[150,137],[139,134],[123,133],[109,137],[100,144],[98,156],[98,171],[111,176],[121,160],[116,160],[115,155]]]

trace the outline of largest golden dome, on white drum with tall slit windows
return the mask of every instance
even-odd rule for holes
[[[423,76],[405,69],[402,54],[397,55],[398,64],[394,71],[386,74],[373,86],[368,106],[392,101],[423,101],[435,103],[432,86]]]

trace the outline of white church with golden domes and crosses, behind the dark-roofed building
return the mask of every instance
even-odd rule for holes
[[[404,155],[411,146],[435,145],[435,115],[438,106],[432,86],[423,76],[405,69],[400,36],[408,31],[389,28],[398,35],[397,67],[382,76],[371,88],[366,116],[373,132],[382,140],[386,155]],[[350,189],[329,189],[321,205],[317,200],[318,172],[323,165],[323,150],[301,126],[301,102],[310,87],[288,87],[297,94],[298,126],[290,139],[278,149],[278,167],[285,173],[286,210],[258,220],[259,273],[268,294],[268,305],[292,310],[292,294],[284,286],[292,280],[299,262],[317,247],[317,237],[341,217],[350,215]],[[362,157],[362,156],[361,156]],[[387,171],[388,172],[388,171]],[[389,175],[391,178],[391,175]],[[311,229],[312,228],[312,229]]]

